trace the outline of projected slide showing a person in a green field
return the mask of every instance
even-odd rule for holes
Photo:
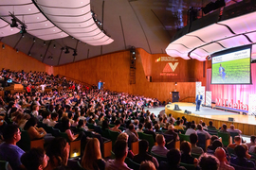
[[[211,84],[250,84],[250,51],[239,48],[212,57]]]

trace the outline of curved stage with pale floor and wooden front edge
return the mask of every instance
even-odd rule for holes
[[[179,106],[180,110],[174,110],[175,104]],[[192,114],[184,113],[185,110],[192,111]],[[254,116],[242,115],[224,110],[213,110],[208,107],[200,107],[200,111],[195,111],[194,104],[183,102],[166,105],[165,112],[167,114],[172,113],[174,118],[185,116],[188,121],[194,120],[195,123],[199,123],[200,120],[203,120],[208,125],[211,120],[215,127],[221,127],[223,124],[227,124],[229,127],[231,124],[234,124],[234,126],[241,129],[245,135],[256,133],[256,119]],[[234,121],[230,122],[229,117],[234,118]]]

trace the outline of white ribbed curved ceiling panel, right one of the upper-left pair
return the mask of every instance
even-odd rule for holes
[[[103,36],[103,32],[100,34],[101,29],[92,18],[90,1],[35,0],[35,2],[51,22],[82,42],[106,45],[114,41],[111,38],[105,40],[103,38],[107,35]],[[87,36],[86,39],[84,36]]]

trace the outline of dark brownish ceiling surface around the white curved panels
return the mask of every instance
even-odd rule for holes
[[[11,2],[10,2],[11,3]],[[187,25],[187,11],[191,7],[204,7],[210,0],[92,0],[91,9],[101,20],[103,29],[114,42],[103,46],[92,46],[72,37],[44,41],[20,33],[2,37],[1,42],[18,49],[48,65],[61,65],[102,54],[129,49],[131,46],[145,49],[148,53],[165,53],[178,28]],[[227,5],[234,1],[226,1]],[[1,2],[0,2],[1,7]],[[103,15],[102,15],[103,12]],[[77,49],[64,54],[62,47]],[[51,59],[52,57],[52,59]]]

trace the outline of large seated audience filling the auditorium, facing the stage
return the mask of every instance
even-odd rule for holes
[[[86,170],[255,169],[255,136],[245,143],[242,131],[233,125],[196,124],[162,111],[155,116],[147,108],[161,105],[156,98],[111,92],[40,72],[3,69],[0,80],[3,87],[19,83],[25,88],[20,93],[6,91],[0,98],[0,160],[9,161],[14,170],[76,169],[68,163],[74,160]],[[224,145],[212,133],[218,131],[235,133],[234,142]],[[118,134],[115,141],[110,132]],[[23,149],[27,143],[23,134],[30,141],[44,139],[43,148]],[[109,140],[113,156],[103,158],[101,143]],[[200,143],[207,140],[210,145]],[[73,141],[81,141],[80,159],[69,158]],[[136,154],[132,143],[138,143]]]

